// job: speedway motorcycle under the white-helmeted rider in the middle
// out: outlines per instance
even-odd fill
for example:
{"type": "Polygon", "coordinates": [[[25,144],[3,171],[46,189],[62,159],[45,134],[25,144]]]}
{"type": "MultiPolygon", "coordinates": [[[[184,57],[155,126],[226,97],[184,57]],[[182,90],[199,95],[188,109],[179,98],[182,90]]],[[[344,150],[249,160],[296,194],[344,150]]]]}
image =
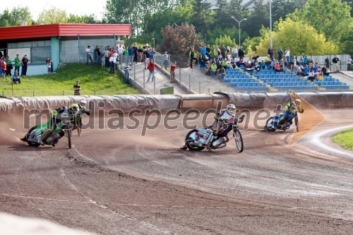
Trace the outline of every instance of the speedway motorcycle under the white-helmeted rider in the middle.
{"type": "Polygon", "coordinates": [[[191,151],[201,151],[205,149],[206,145],[209,145],[211,149],[220,149],[227,146],[229,141],[222,133],[230,126],[232,126],[233,137],[235,140],[235,145],[238,152],[243,152],[244,143],[241,133],[238,128],[238,123],[241,123],[244,119],[244,115],[239,116],[239,119],[232,116],[229,119],[223,119],[223,125],[215,134],[213,126],[208,126],[208,128],[196,127],[189,131],[185,137],[185,145],[191,151]]]}

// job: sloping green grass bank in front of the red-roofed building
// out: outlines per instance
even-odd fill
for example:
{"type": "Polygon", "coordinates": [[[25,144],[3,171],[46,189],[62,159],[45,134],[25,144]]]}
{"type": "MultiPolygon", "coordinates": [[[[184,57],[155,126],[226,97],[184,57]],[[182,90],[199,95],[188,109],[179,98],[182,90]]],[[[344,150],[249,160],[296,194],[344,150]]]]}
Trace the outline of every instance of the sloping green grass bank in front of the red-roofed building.
{"type": "MultiPolygon", "coordinates": [[[[28,67],[30,69],[30,67],[28,67]]],[[[21,84],[11,83],[12,77],[0,78],[0,95],[6,97],[59,96],[73,95],[73,85],[80,80],[81,95],[132,95],[141,94],[140,90],[124,83],[124,75],[107,73],[108,68],[86,66],[85,64],[68,64],[56,70],[56,73],[21,77],[21,84]]]]}

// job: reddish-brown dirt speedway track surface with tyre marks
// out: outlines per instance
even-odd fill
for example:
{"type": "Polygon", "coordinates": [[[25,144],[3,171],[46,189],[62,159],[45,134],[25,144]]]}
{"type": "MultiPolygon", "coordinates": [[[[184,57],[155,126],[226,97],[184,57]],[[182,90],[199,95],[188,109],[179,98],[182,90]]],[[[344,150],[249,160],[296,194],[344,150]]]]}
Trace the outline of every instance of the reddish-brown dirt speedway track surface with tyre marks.
{"type": "Polygon", "coordinates": [[[179,150],[180,120],[145,137],[84,130],[71,150],[65,138],[29,147],[11,117],[1,121],[0,211],[97,234],[352,234],[353,152],[336,151],[330,133],[352,127],[353,111],[321,112],[325,121],[292,146],[294,128],[240,126],[242,153],[233,142],[179,150]]]}

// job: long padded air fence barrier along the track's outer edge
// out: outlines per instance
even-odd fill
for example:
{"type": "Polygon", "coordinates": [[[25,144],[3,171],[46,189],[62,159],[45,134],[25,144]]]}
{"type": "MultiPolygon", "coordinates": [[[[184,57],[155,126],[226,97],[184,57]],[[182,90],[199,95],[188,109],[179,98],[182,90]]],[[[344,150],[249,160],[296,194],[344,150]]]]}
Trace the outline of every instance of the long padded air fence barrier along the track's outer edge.
{"type": "MultiPolygon", "coordinates": [[[[323,108],[353,108],[353,92],[298,92],[306,102],[314,107],[323,108]]],[[[53,110],[58,107],[78,103],[85,97],[88,108],[93,112],[99,110],[119,110],[128,113],[133,109],[140,110],[143,114],[146,110],[157,109],[161,113],[167,113],[172,109],[215,109],[219,102],[224,107],[229,102],[237,107],[273,108],[277,104],[285,104],[290,101],[287,92],[270,93],[227,93],[217,92],[211,95],[114,95],[114,96],[68,96],[68,97],[12,97],[0,98],[1,116],[11,114],[23,114],[25,110],[43,109],[53,110]]]]}

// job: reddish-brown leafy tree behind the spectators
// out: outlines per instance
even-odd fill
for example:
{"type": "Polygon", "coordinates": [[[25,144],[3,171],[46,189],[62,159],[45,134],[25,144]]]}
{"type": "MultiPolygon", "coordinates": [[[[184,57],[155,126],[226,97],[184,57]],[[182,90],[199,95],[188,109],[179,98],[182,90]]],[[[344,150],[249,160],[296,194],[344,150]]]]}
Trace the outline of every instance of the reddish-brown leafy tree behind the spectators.
{"type": "Polygon", "coordinates": [[[195,31],[193,25],[181,23],[181,25],[166,25],[160,30],[163,42],[161,51],[168,51],[171,54],[186,55],[191,47],[198,52],[203,46],[203,41],[199,40],[200,35],[195,31]]]}

